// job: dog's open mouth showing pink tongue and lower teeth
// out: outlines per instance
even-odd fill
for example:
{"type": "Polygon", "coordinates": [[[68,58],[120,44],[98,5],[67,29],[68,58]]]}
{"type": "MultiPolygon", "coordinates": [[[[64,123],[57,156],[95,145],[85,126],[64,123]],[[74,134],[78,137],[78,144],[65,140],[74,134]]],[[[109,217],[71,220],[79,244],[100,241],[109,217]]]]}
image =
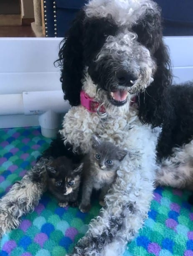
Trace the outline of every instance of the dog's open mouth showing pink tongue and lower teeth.
{"type": "Polygon", "coordinates": [[[109,100],[113,105],[122,106],[127,102],[128,91],[126,90],[117,90],[111,91],[109,94],[109,100]]]}

